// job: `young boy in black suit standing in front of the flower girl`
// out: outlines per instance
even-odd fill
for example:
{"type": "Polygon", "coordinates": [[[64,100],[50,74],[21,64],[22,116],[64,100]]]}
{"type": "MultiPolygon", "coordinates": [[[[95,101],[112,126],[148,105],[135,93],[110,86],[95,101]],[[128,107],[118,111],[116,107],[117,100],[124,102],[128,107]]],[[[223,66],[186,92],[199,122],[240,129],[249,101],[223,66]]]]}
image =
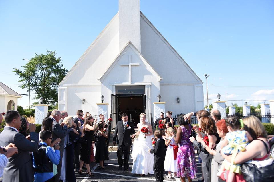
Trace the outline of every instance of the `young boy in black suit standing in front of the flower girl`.
{"type": "Polygon", "coordinates": [[[165,141],[162,138],[162,132],[156,130],[154,132],[155,136],[155,147],[154,149],[148,149],[148,152],[151,154],[154,153],[154,164],[153,171],[156,181],[163,182],[164,181],[164,161],[165,161],[165,151],[166,145],[165,141]]]}

